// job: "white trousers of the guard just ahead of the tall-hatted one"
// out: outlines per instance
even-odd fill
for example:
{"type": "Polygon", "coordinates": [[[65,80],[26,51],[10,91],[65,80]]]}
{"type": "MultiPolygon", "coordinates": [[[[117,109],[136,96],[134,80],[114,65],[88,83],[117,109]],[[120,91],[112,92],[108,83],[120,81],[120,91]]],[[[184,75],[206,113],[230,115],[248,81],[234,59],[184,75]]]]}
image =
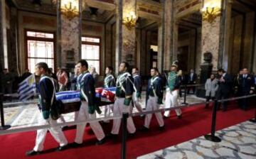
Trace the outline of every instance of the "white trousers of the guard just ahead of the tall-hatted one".
{"type": "MultiPolygon", "coordinates": [[[[159,104],[157,104],[157,99],[158,97],[151,97],[149,96],[149,99],[146,102],[146,111],[154,111],[159,109],[159,104]]],[[[144,126],[146,128],[149,128],[150,121],[152,119],[153,114],[146,114],[145,117],[145,123],[144,126]]],[[[159,126],[164,126],[164,119],[163,116],[161,115],[161,112],[155,113],[156,120],[159,123],[159,126]]]]}

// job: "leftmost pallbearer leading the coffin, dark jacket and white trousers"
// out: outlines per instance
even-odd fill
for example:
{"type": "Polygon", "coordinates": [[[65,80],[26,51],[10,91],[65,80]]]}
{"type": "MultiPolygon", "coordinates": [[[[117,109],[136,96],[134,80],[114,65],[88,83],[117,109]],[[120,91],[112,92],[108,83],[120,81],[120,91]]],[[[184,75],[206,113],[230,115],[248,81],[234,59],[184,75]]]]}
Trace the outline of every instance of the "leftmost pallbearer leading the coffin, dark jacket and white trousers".
{"type": "MultiPolygon", "coordinates": [[[[55,87],[53,79],[46,75],[48,72],[48,65],[45,62],[39,62],[35,67],[35,75],[41,77],[40,82],[38,83],[38,92],[39,92],[39,110],[38,114],[38,124],[40,125],[54,125],[57,124],[56,120],[52,119],[50,111],[55,104],[55,87]]],[[[38,129],[36,133],[36,146],[33,150],[30,150],[26,155],[38,155],[43,151],[43,143],[46,140],[47,131],[53,136],[55,141],[60,144],[57,150],[64,150],[67,148],[68,141],[64,136],[63,131],[60,126],[55,126],[51,128],[38,129]]]]}

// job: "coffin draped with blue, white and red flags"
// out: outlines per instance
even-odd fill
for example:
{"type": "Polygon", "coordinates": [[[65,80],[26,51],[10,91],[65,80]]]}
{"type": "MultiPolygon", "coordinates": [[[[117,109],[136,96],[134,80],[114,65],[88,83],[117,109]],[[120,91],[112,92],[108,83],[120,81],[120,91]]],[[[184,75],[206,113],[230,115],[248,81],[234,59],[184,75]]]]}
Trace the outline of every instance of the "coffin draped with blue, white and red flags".
{"type": "MultiPolygon", "coordinates": [[[[95,96],[100,99],[99,106],[114,103],[114,94],[116,87],[96,88],[95,96]]],[[[56,93],[56,99],[63,104],[62,114],[79,111],[80,109],[80,91],[63,91],[56,93]]]]}

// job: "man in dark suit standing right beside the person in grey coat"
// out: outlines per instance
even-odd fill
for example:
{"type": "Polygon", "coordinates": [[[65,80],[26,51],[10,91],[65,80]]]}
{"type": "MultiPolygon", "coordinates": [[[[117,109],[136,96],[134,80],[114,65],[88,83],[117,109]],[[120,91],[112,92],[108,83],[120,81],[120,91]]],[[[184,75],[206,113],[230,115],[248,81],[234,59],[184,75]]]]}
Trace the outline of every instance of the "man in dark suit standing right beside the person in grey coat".
{"type": "MultiPolygon", "coordinates": [[[[218,87],[216,97],[218,100],[228,99],[230,92],[232,90],[233,79],[223,69],[218,70],[218,75],[219,75],[219,79],[218,79],[219,87],[218,87]]],[[[227,110],[227,105],[228,105],[228,102],[223,102],[223,111],[227,110]]],[[[218,109],[220,109],[220,103],[218,104],[218,109]]]]}

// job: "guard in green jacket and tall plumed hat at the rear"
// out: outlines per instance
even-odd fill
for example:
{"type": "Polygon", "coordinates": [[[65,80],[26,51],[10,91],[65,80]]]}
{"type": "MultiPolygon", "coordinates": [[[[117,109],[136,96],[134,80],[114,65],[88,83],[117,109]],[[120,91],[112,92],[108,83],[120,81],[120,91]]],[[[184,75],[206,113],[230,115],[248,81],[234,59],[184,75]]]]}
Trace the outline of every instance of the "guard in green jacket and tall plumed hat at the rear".
{"type": "MultiPolygon", "coordinates": [[[[181,85],[181,76],[177,74],[178,65],[171,65],[171,72],[169,72],[166,82],[166,101],[165,107],[178,106],[178,90],[181,85]]],[[[178,119],[181,119],[181,109],[175,109],[178,119]]],[[[164,117],[169,118],[171,111],[165,111],[164,117]]]]}

